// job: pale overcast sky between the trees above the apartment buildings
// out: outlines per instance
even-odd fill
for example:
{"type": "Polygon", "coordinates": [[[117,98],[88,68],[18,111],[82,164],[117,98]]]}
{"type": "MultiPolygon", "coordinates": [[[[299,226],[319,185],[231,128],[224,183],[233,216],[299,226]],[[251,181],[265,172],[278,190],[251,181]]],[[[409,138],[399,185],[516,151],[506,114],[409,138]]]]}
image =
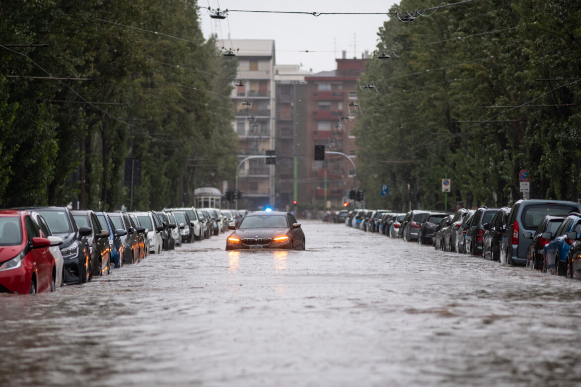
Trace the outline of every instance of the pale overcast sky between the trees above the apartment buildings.
{"type": "MultiPolygon", "coordinates": [[[[393,0],[199,0],[199,6],[212,9],[272,10],[292,12],[389,12],[399,3],[393,0]]],[[[212,32],[218,41],[224,39],[231,48],[232,39],[274,39],[277,64],[302,64],[303,70],[314,73],[336,68],[335,58],[342,50],[347,58],[361,58],[364,50],[370,55],[378,41],[377,32],[388,20],[387,15],[289,15],[277,13],[231,12],[227,19],[211,19],[207,9],[200,10],[205,37],[212,32]],[[301,52],[304,50],[314,52],[301,52]]],[[[232,47],[234,50],[236,47],[232,47]]]]}

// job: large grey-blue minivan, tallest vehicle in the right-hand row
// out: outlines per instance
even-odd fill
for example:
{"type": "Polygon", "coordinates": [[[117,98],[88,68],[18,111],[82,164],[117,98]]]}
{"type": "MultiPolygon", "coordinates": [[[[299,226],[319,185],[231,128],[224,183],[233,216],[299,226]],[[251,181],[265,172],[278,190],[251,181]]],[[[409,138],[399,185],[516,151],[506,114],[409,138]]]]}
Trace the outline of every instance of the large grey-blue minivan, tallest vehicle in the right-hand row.
{"type": "Polygon", "coordinates": [[[523,236],[525,233],[534,232],[547,215],[566,216],[580,211],[581,204],[571,201],[530,199],[515,202],[508,214],[505,229],[501,229],[500,261],[510,265],[525,265],[530,243],[530,239],[523,236]]]}

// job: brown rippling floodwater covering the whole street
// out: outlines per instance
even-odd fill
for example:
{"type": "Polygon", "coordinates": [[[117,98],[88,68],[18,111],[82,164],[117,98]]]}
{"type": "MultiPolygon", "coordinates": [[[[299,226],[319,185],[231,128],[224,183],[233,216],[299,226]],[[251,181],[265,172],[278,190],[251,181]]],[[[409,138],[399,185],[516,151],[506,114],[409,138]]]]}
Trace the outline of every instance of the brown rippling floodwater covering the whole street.
{"type": "Polygon", "coordinates": [[[227,234],[85,285],[0,295],[0,386],[566,386],[581,281],[303,223],[227,234]]]}

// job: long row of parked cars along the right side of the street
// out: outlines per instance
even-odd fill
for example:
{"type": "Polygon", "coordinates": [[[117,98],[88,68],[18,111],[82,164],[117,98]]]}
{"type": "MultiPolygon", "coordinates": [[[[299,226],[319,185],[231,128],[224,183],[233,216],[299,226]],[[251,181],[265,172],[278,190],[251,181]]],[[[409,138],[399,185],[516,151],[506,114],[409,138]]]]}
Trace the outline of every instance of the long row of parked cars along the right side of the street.
{"type": "Polygon", "coordinates": [[[581,278],[581,204],[576,202],[519,200],[511,207],[460,208],[454,214],[358,209],[347,213],[345,224],[436,250],[581,278]]]}

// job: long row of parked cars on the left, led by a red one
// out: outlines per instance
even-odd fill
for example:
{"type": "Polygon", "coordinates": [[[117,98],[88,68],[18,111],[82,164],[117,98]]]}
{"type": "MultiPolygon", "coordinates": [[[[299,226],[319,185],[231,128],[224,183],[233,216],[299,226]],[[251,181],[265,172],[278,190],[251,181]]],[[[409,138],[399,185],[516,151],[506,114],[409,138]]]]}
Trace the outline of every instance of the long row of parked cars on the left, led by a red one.
{"type": "Polygon", "coordinates": [[[95,212],[67,207],[0,211],[0,292],[34,294],[91,281],[228,230],[245,211],[164,208],[95,212]]]}

